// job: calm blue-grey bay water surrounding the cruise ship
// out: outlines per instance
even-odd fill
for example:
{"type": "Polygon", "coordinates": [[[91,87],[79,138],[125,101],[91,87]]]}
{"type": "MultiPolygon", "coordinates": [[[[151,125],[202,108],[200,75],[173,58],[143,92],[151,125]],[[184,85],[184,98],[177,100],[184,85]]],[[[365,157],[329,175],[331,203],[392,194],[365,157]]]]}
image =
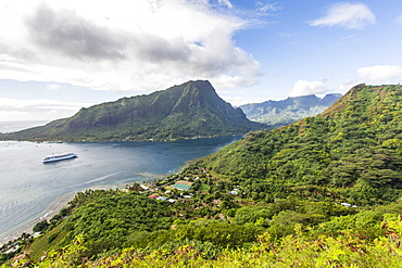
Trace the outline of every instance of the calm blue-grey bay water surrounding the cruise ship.
{"type": "Polygon", "coordinates": [[[63,194],[153,180],[240,138],[164,143],[0,141],[0,241],[16,227],[45,216],[49,204],[63,194]],[[78,153],[78,158],[42,164],[45,155],[63,152],[78,153]]]}

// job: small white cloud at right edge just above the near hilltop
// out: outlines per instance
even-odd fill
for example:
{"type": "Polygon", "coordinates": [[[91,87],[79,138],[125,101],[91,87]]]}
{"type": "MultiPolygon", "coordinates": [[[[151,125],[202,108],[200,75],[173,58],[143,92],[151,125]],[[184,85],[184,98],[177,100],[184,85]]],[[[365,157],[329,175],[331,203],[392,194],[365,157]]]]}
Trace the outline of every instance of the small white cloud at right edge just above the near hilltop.
{"type": "Polygon", "coordinates": [[[357,69],[359,79],[368,84],[402,82],[402,67],[392,65],[375,65],[357,69]]]}

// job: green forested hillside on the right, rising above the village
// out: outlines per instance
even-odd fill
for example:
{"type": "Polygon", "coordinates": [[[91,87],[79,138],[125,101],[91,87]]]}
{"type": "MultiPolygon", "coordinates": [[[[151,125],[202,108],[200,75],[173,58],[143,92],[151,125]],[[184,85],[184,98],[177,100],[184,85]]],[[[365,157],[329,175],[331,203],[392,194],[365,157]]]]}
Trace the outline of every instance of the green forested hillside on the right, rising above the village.
{"type": "Polygon", "coordinates": [[[247,135],[201,165],[248,189],[354,204],[402,194],[402,87],[352,88],[318,116],[247,135]],[[323,192],[324,191],[324,192],[323,192]]]}

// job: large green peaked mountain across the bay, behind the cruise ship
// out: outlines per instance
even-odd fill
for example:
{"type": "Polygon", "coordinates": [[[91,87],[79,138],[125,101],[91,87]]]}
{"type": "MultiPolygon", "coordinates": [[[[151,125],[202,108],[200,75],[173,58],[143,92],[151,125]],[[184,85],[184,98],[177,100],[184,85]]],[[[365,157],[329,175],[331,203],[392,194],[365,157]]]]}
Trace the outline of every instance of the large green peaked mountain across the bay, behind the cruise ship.
{"type": "MultiPolygon", "coordinates": [[[[223,101],[209,81],[83,107],[70,118],[5,136],[23,140],[175,140],[264,128],[223,101]]],[[[4,137],[4,136],[3,136],[4,137]]]]}

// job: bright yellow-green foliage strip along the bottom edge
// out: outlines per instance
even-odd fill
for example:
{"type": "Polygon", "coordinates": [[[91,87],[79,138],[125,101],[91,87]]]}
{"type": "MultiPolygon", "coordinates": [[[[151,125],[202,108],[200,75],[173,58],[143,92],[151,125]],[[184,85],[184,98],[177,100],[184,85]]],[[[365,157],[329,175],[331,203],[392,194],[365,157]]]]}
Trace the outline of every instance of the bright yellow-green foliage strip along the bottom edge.
{"type": "MultiPolygon", "coordinates": [[[[365,215],[368,216],[368,215],[365,215]]],[[[362,218],[365,218],[362,215],[362,218]]],[[[370,217],[369,217],[370,218],[370,217]]],[[[373,222],[375,225],[375,222],[373,222]]],[[[175,248],[156,248],[149,253],[126,247],[97,259],[81,259],[87,248],[83,237],[60,251],[47,253],[41,260],[23,258],[14,263],[22,267],[400,267],[402,221],[398,215],[385,215],[375,229],[381,230],[375,240],[344,230],[339,237],[328,234],[311,238],[300,230],[273,242],[269,233],[259,237],[247,248],[226,248],[217,257],[208,257],[209,244],[188,243],[175,248]],[[205,257],[206,256],[206,257],[205,257]]],[[[213,253],[212,253],[213,254],[213,253]]]]}

